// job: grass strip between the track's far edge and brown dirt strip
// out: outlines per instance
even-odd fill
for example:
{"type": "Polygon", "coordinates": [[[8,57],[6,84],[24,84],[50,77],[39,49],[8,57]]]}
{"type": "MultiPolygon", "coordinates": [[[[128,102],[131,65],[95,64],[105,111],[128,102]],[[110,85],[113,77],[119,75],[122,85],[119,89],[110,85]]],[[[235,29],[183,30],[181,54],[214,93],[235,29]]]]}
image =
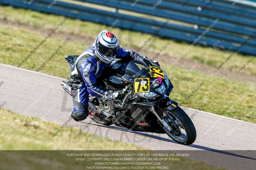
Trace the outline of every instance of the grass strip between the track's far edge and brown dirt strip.
{"type": "MultiPolygon", "coordinates": [[[[9,27],[0,34],[0,39],[0,47],[7,48],[0,58],[0,63],[17,66],[24,59],[24,56],[27,56],[30,50],[32,50],[38,42],[41,42],[42,39],[44,39],[44,36],[23,29],[9,27]],[[14,37],[16,37],[17,41],[14,41],[12,46],[8,45],[14,37]]],[[[51,38],[46,41],[46,43],[22,65],[22,68],[28,70],[38,69],[38,67],[52,55],[56,47],[59,47],[62,42],[63,40],[58,38],[51,38]]],[[[40,72],[62,78],[69,78],[69,66],[64,60],[64,57],[68,54],[80,54],[83,50],[83,44],[70,40],[67,45],[64,46],[42,70],[40,70],[40,72]]],[[[168,67],[167,64],[160,64],[162,64],[161,66],[168,67]]],[[[172,99],[177,100],[179,103],[182,102],[192,90],[203,82],[204,85],[187,102],[185,102],[183,106],[197,109],[202,103],[206,103],[203,110],[218,115],[225,114],[229,107],[235,104],[235,102],[243,96],[244,92],[252,86],[252,83],[232,81],[226,78],[214,77],[194,71],[190,74],[187,74],[186,72],[186,69],[176,66],[167,70],[169,78],[174,85],[174,90],[171,93],[172,99]],[[181,78],[184,77],[191,77],[192,79],[191,81],[180,82],[181,78]],[[177,84],[177,82],[180,83],[177,84]],[[182,92],[178,90],[178,86],[182,92]]],[[[241,102],[238,102],[236,106],[226,114],[226,116],[255,123],[255,111],[250,113],[252,107],[255,106],[255,102],[252,102],[256,100],[255,91],[256,88],[253,88],[241,102]],[[250,113],[250,115],[244,119],[244,115],[247,115],[248,113],[250,113]]]]}

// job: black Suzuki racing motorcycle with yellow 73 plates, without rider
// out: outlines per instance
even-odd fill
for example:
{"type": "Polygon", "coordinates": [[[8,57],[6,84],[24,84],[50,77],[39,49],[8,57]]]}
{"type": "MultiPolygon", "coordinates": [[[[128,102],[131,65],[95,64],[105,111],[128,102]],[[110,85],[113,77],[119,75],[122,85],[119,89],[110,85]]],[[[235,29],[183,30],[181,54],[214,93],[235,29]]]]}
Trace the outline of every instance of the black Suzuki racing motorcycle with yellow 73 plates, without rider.
{"type": "MultiPolygon", "coordinates": [[[[77,55],[68,55],[70,68],[77,58],[77,55]]],[[[173,85],[163,71],[165,68],[149,61],[142,57],[128,62],[116,59],[111,63],[106,74],[97,81],[110,92],[121,94],[123,100],[104,101],[90,95],[89,102],[98,111],[98,116],[92,120],[129,131],[166,133],[179,144],[192,144],[196,140],[193,122],[178,102],[169,98],[173,85]]]]}

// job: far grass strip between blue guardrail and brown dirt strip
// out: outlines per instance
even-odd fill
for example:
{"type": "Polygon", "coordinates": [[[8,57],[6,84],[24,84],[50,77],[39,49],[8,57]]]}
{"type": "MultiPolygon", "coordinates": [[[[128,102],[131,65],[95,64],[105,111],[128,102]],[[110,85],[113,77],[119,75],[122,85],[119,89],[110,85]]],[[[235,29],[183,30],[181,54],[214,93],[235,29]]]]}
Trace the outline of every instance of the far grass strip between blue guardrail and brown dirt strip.
{"type": "MultiPolygon", "coordinates": [[[[14,9],[10,6],[0,6],[0,18],[11,19],[13,17],[15,18],[14,22],[20,22],[26,25],[49,29],[55,28],[56,25],[63,20],[62,16],[49,15],[31,10],[14,9]]],[[[69,18],[68,21],[64,24],[64,26],[60,28],[59,31],[65,33],[75,33],[77,35],[95,38],[99,31],[107,27],[108,26],[103,26],[91,22],[84,22],[78,19],[69,18]]],[[[134,50],[137,50],[151,36],[149,34],[121,30],[115,27],[112,29],[112,31],[118,35],[119,41],[121,42],[122,46],[134,50]],[[133,42],[127,41],[128,37],[131,36],[133,42]]],[[[148,49],[148,47],[146,47],[141,51],[141,53],[143,54],[144,50],[148,50],[152,52],[152,56],[148,56],[151,58],[155,55],[155,53],[159,52],[159,49],[161,49],[166,44],[167,41],[169,41],[171,42],[171,46],[168,47],[162,54],[166,53],[167,55],[178,57],[190,45],[185,42],[176,42],[173,40],[163,38],[156,38],[154,39],[154,41],[155,40],[156,42],[151,48],[148,49]]],[[[85,44],[85,46],[86,45],[89,44],[85,44]]],[[[194,46],[183,57],[197,62],[208,50],[209,47],[194,46]]],[[[219,49],[214,49],[204,59],[203,63],[206,63],[217,68],[231,53],[232,52],[228,50],[222,51],[219,49]]],[[[252,55],[236,54],[221,69],[237,71],[251,57],[252,55]]],[[[256,75],[256,70],[254,69],[255,66],[256,62],[252,62],[246,66],[246,69],[243,70],[243,72],[248,75],[256,75]]],[[[218,70],[216,69],[216,71],[218,70]]]]}

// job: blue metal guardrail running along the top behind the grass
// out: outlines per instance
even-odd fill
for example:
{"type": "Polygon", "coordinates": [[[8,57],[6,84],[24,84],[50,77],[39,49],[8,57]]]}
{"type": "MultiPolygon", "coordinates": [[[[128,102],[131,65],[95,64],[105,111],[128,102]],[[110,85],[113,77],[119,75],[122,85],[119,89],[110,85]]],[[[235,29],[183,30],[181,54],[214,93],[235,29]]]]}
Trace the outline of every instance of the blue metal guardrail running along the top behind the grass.
{"type": "MultiPolygon", "coordinates": [[[[76,1],[84,2],[85,0],[76,1]]],[[[132,6],[135,0],[86,0],[91,4],[105,4],[115,11],[61,1],[57,1],[48,8],[47,6],[53,0],[34,0],[31,4],[28,2],[29,0],[4,0],[3,4],[105,25],[111,25],[118,19],[116,27],[149,34],[156,33],[157,28],[164,25],[163,30],[157,35],[191,43],[219,18],[219,21],[197,41],[197,44],[212,46],[219,40],[217,47],[229,50],[236,50],[248,36],[256,31],[256,8],[238,2],[232,5],[231,1],[213,0],[212,4],[209,4],[209,0],[188,0],[184,5],[186,2],[184,0],[163,0],[153,8],[152,6],[159,1],[139,0],[132,6]],[[120,10],[136,12],[144,17],[119,12],[120,10]],[[164,24],[165,20],[170,22],[164,24]]],[[[254,55],[255,47],[256,39],[252,37],[239,52],[254,55]]]]}

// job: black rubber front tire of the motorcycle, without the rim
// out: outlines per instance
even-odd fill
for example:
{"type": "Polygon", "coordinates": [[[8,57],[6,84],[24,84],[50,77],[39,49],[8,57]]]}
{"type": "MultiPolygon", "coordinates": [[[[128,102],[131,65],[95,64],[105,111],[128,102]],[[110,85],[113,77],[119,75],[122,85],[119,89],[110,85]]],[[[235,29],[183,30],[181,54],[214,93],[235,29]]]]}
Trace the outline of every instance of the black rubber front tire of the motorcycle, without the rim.
{"type": "Polygon", "coordinates": [[[193,144],[196,140],[196,128],[193,122],[191,121],[191,119],[188,117],[188,115],[179,106],[177,106],[173,110],[166,109],[166,111],[170,112],[173,116],[175,116],[180,121],[180,123],[182,124],[182,126],[186,131],[187,139],[186,141],[179,141],[168,133],[167,131],[168,129],[166,130],[165,128],[163,128],[166,134],[179,144],[185,144],[185,145],[193,144]]]}

